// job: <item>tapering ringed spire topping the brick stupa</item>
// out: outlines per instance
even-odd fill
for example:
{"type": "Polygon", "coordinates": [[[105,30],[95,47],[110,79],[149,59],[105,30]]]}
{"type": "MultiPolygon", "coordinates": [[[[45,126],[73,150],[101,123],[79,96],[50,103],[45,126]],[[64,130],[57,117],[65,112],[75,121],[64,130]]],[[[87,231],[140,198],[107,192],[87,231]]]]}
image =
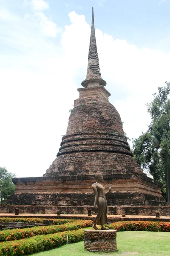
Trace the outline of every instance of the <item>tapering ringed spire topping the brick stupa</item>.
{"type": "Polygon", "coordinates": [[[88,70],[86,79],[82,81],[82,86],[95,87],[98,85],[105,86],[106,82],[101,78],[100,73],[99,57],[97,53],[96,36],[94,28],[94,10],[92,7],[91,37],[88,52],[88,70]]]}

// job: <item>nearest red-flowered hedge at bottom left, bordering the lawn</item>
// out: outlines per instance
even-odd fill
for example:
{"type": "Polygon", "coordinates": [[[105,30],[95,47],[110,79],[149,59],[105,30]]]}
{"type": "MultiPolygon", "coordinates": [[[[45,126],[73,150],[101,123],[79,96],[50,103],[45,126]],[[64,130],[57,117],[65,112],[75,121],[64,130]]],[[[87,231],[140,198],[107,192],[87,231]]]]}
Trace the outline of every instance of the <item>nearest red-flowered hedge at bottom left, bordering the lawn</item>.
{"type": "Polygon", "coordinates": [[[82,241],[84,239],[84,229],[2,242],[0,244],[0,256],[21,256],[53,249],[66,244],[67,236],[68,243],[82,241]]]}

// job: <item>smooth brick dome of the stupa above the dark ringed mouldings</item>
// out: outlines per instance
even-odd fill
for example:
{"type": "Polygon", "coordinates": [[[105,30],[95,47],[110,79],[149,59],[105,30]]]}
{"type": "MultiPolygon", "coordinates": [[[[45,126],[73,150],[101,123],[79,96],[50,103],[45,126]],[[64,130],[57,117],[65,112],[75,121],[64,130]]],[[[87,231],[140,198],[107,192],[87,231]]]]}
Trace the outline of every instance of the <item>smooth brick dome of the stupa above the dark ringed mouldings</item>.
{"type": "Polygon", "coordinates": [[[99,100],[90,102],[79,99],[79,105],[75,103],[66,134],[75,134],[78,131],[82,133],[93,131],[113,133],[115,131],[124,135],[122,121],[116,108],[110,102],[99,100]]]}

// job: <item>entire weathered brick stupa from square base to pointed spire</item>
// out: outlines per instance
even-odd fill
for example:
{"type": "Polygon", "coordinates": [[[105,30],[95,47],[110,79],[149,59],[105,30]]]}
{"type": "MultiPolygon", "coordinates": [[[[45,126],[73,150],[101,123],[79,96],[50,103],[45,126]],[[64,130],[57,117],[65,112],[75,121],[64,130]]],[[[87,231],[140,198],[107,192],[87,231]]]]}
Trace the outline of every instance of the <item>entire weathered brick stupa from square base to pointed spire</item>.
{"type": "Polygon", "coordinates": [[[105,85],[92,13],[87,77],[78,89],[57,158],[43,177],[13,179],[17,186],[9,203],[20,205],[20,212],[56,213],[60,209],[87,214],[94,204],[94,175],[100,171],[106,190],[112,184],[108,213],[155,215],[159,210],[161,215],[170,214],[161,195],[162,184],[147,177],[133,158],[105,85]]]}

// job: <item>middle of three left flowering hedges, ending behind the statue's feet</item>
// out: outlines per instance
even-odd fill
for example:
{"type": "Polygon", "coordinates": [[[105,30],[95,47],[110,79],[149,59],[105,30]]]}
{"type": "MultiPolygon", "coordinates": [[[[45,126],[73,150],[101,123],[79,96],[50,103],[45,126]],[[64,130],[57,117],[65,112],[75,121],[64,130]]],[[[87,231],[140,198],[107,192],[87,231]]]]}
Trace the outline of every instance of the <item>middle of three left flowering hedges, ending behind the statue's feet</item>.
{"type": "Polygon", "coordinates": [[[19,239],[30,238],[32,236],[40,236],[46,234],[54,234],[66,230],[78,230],[83,227],[91,227],[93,221],[90,220],[75,220],[73,223],[63,225],[51,225],[42,227],[31,227],[24,229],[3,230],[0,232],[0,242],[13,241],[19,239]]]}

